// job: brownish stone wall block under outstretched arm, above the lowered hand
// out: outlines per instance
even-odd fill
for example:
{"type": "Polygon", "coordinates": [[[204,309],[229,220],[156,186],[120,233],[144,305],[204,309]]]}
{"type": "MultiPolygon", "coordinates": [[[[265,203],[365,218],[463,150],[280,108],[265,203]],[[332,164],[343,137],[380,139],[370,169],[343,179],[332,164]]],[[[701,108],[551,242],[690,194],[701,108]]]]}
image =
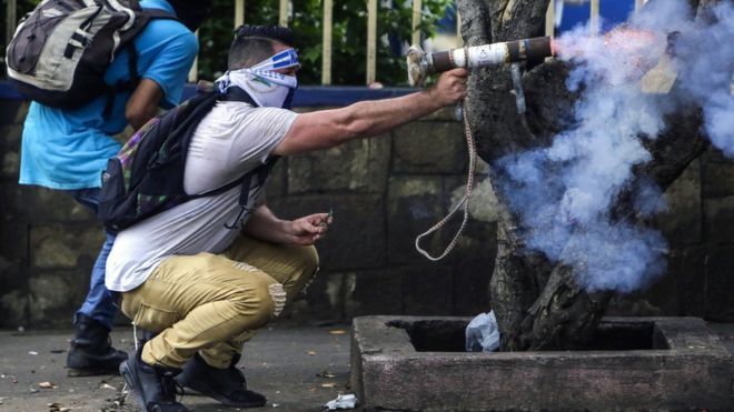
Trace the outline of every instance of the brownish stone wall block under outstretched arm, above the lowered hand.
{"type": "Polygon", "coordinates": [[[387,135],[353,140],[288,159],[288,193],[384,193],[390,157],[387,135]]]}

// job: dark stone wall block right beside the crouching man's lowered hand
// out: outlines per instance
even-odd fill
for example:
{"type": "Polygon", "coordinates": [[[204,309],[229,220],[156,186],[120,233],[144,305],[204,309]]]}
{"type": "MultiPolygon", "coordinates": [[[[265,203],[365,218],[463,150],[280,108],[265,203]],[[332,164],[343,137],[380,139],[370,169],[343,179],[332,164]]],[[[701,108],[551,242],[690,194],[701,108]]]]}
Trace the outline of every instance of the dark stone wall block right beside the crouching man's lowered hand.
{"type": "Polygon", "coordinates": [[[284,219],[334,211],[334,224],[317,244],[324,270],[380,268],[387,260],[385,204],[380,195],[290,195],[274,200],[270,207],[284,219]]]}

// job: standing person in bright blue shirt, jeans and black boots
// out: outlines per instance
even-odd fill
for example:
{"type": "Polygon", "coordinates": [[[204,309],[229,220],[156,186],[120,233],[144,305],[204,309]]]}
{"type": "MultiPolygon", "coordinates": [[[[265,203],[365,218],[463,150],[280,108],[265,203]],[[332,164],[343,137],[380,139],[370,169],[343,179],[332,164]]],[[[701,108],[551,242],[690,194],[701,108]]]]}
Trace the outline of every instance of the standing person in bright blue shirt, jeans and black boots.
{"type": "MultiPolygon", "coordinates": [[[[75,109],[32,102],[23,124],[20,184],[66,191],[97,212],[101,172],[120,150],[112,137],[128,123],[140,128],[159,107],[178,104],[198,53],[194,31],[207,17],[210,1],[142,0],[140,6],[178,19],[155,19],[132,40],[140,82],[131,91],[116,93],[112,101],[103,94],[75,109]]],[[[110,86],[130,81],[130,59],[131,49],[126,47],[107,69],[105,81],[110,86]]],[[[105,267],[113,241],[115,233],[107,232],[89,292],[73,316],[77,332],[67,358],[71,376],[117,373],[127,359],[109,338],[118,307],[105,288],[105,267]]]]}

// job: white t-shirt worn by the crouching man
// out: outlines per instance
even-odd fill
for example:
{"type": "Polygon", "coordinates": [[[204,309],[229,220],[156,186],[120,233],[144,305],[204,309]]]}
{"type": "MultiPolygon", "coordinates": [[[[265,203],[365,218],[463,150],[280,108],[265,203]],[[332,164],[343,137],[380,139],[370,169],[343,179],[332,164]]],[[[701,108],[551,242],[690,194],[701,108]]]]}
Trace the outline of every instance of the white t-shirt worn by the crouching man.
{"type": "MultiPolygon", "coordinates": [[[[239,179],[265,163],[298,114],[276,108],[252,108],[242,102],[218,102],[194,133],[186,159],[184,188],[205,193],[239,179]]],[[[240,185],[216,195],[192,199],[121,231],[107,259],[107,289],[130,291],[142,284],[158,263],[171,254],[220,253],[229,247],[237,228],[240,185]]],[[[262,188],[250,188],[248,209],[262,188]]]]}

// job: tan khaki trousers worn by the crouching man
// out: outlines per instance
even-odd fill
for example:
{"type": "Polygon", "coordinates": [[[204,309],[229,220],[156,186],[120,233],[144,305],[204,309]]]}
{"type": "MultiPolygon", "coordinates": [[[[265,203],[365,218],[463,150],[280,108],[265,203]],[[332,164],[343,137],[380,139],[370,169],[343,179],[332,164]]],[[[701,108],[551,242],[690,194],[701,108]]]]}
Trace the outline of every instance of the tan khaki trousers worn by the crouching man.
{"type": "Polygon", "coordinates": [[[181,368],[199,352],[225,369],[317,269],[314,247],[240,237],[222,254],[166,258],[145,283],[122,293],[121,310],[136,326],[159,332],[142,348],[143,362],[181,368]]]}

